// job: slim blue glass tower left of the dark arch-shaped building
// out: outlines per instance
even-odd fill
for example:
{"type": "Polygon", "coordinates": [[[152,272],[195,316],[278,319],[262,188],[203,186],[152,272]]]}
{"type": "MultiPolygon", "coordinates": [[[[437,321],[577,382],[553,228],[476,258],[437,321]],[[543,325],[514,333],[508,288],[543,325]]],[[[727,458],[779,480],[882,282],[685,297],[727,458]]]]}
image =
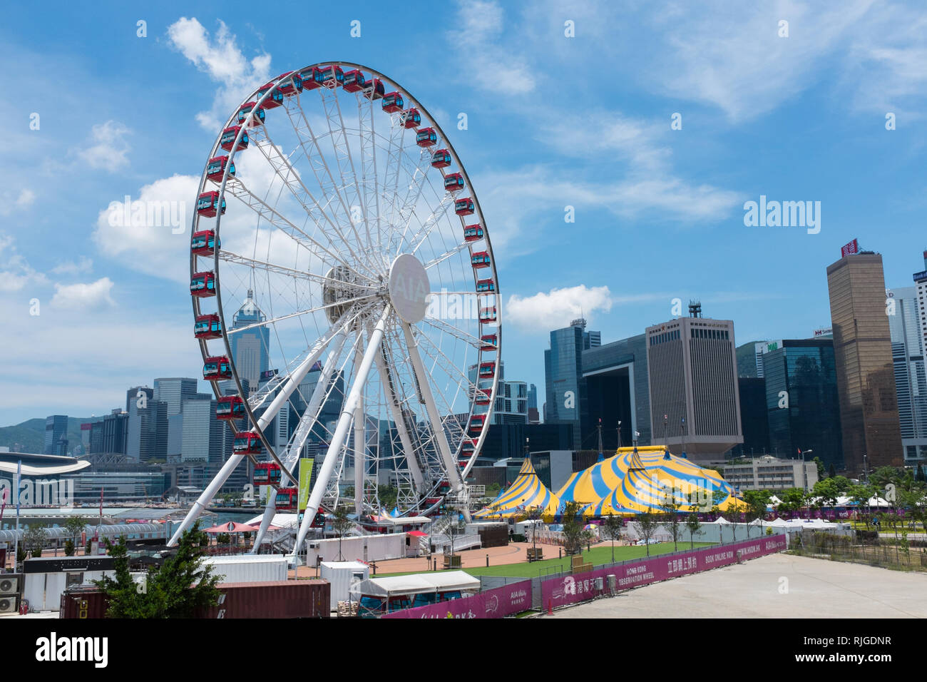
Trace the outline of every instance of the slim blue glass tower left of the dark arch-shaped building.
{"type": "Polygon", "coordinates": [[[551,332],[551,349],[544,351],[544,380],[547,412],[544,421],[573,425],[573,449],[582,449],[582,421],[588,418],[586,380],[582,374],[582,353],[602,345],[602,333],[586,331],[586,320],[573,320],[569,327],[551,332]]]}

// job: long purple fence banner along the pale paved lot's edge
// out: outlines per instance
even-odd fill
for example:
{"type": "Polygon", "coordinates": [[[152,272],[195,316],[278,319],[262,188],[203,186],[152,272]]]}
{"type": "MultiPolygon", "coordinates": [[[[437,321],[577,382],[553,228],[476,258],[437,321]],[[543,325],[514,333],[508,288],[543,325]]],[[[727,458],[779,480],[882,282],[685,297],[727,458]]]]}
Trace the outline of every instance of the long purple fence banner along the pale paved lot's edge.
{"type": "Polygon", "coordinates": [[[781,552],[783,549],[785,549],[785,535],[775,534],[756,540],[744,540],[724,547],[706,547],[684,554],[655,556],[648,560],[603,568],[590,573],[562,575],[540,584],[541,603],[544,609],[552,609],[607,594],[609,575],[615,575],[616,591],[618,591],[650,585],[661,580],[677,578],[680,575],[699,573],[718,566],[727,566],[737,561],[738,551],[746,560],[781,552]]]}

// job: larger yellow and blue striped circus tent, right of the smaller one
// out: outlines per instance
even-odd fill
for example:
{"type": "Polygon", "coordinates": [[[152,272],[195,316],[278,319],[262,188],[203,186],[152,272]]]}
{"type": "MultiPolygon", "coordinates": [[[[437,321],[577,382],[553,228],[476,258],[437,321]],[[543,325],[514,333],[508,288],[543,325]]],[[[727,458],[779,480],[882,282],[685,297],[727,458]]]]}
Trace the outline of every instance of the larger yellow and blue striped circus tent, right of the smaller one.
{"type": "Polygon", "coordinates": [[[716,491],[722,511],[743,504],[717,471],[670,455],[662,446],[648,446],[621,448],[614,457],[574,473],[557,495],[564,504],[584,505],[583,514],[592,517],[660,511],[670,492],[679,511],[707,510],[715,504],[716,491]]]}

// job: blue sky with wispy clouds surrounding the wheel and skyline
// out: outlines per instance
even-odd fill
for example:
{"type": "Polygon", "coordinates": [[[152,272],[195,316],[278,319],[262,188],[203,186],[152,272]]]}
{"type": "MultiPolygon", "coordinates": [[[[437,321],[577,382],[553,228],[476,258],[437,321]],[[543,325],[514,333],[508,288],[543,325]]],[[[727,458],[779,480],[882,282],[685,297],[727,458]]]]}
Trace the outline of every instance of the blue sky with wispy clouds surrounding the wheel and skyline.
{"type": "Polygon", "coordinates": [[[451,137],[493,238],[506,377],[541,392],[547,332],[580,309],[603,342],[668,319],[674,298],[733,319],[738,343],[801,338],[829,324],[825,268],[850,239],[883,253],[888,286],[923,269],[918,3],[324,7],[6,7],[0,425],[100,415],[129,386],[197,376],[189,236],[121,234],[101,212],[191,200],[215,121],[328,59],[386,73],[451,137]],[[819,234],[745,226],[760,195],[820,201],[819,234]]]}

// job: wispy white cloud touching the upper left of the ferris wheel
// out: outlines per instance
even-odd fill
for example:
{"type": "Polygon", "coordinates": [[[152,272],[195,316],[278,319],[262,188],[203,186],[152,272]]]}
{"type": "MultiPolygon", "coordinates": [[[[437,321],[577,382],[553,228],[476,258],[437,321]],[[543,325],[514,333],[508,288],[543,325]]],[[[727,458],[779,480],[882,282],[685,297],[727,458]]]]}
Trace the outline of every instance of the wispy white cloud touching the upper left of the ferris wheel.
{"type": "Polygon", "coordinates": [[[217,131],[250,92],[271,79],[271,56],[264,52],[248,61],[222,21],[210,40],[196,18],[182,17],[168,27],[168,38],[172,47],[220,84],[211,109],[197,113],[197,122],[207,130],[217,131]]]}

